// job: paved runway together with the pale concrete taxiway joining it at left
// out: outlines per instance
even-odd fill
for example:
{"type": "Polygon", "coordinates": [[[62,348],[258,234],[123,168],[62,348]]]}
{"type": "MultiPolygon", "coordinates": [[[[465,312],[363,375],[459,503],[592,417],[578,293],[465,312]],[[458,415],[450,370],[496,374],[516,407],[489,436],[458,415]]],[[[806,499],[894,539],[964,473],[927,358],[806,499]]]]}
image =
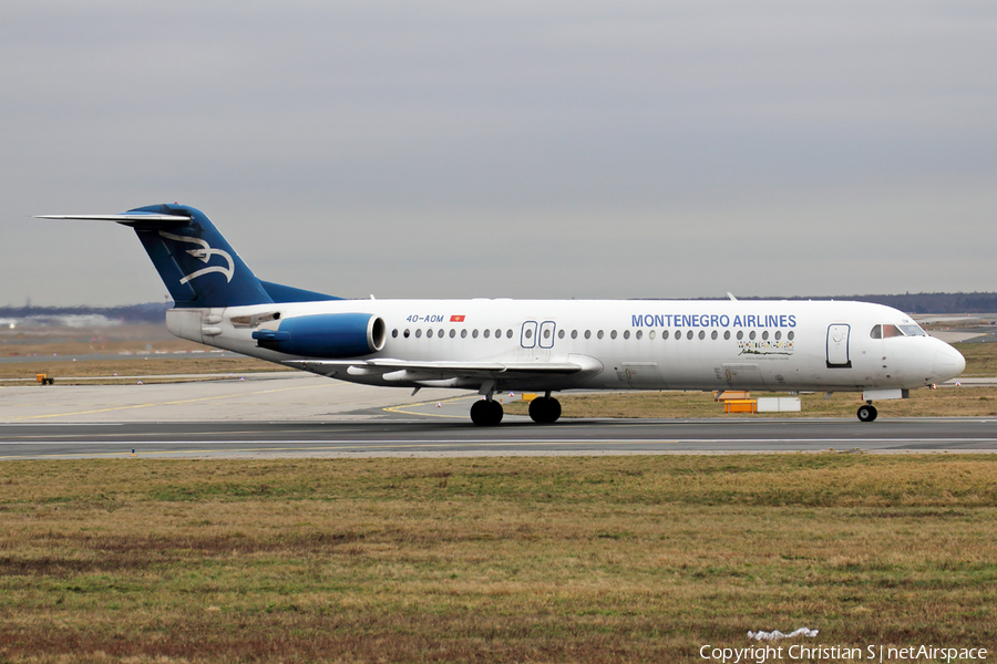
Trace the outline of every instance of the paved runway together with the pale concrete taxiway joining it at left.
{"type": "MultiPolygon", "coordinates": [[[[562,419],[481,428],[466,393],[265,374],[0,390],[0,459],[997,452],[997,418],[562,419]]],[[[504,395],[503,398],[518,398],[504,395]]]]}

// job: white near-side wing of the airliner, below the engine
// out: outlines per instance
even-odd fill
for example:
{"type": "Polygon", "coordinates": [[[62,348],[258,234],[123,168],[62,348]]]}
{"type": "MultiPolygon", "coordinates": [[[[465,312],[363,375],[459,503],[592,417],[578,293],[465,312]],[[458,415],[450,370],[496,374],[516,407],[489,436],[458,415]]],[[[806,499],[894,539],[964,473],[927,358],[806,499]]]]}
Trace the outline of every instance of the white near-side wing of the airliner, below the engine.
{"type": "Polygon", "coordinates": [[[409,362],[405,360],[376,359],[291,360],[287,366],[310,371],[326,376],[346,373],[350,376],[380,375],[386,381],[439,381],[445,378],[523,378],[543,375],[566,376],[580,372],[595,372],[603,365],[595,359],[573,355],[569,362],[409,362]]]}

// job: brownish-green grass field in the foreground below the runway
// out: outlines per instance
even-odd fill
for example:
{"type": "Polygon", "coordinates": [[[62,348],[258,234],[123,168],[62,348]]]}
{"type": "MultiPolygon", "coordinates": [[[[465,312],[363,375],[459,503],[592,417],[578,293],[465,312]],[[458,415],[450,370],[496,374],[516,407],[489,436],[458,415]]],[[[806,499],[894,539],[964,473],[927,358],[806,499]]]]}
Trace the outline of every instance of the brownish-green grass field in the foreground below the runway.
{"type": "Polygon", "coordinates": [[[984,455],[9,461],[0,662],[994,647],[995,517],[984,455]]]}

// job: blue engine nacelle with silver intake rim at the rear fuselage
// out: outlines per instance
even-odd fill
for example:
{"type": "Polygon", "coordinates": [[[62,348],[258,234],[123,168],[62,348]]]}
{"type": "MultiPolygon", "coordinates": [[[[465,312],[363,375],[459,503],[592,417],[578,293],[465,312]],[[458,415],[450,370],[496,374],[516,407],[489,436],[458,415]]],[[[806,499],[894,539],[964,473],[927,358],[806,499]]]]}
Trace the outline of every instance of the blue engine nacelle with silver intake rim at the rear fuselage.
{"type": "Polygon", "coordinates": [[[317,313],[284,319],[276,330],[257,330],[260,347],[307,357],[356,357],[384,347],[388,328],[370,313],[317,313]]]}

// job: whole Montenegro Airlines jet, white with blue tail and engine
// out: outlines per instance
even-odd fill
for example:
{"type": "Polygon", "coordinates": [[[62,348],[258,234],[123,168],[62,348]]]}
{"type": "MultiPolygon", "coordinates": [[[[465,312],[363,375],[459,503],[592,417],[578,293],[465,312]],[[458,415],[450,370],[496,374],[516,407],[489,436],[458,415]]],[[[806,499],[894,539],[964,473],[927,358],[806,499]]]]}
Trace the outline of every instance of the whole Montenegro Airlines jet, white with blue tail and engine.
{"type": "Polygon", "coordinates": [[[474,390],[479,425],[495,393],[543,393],[553,423],[565,390],[861,392],[874,400],[959,375],[963,356],[901,311],[862,302],[682,300],[348,300],[257,279],[212,221],[184,205],[52,215],[131,226],[176,302],[183,339],[323,376],[474,390]]]}

